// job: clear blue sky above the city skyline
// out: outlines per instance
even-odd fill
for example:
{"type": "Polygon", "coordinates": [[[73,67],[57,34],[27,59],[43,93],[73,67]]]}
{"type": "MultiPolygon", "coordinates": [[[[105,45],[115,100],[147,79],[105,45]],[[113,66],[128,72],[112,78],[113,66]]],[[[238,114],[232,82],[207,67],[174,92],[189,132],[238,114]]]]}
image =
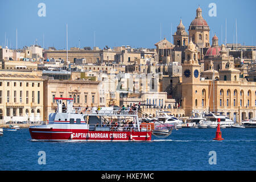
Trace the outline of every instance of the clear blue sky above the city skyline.
{"type": "Polygon", "coordinates": [[[18,29],[18,48],[31,46],[35,40],[44,48],[66,47],[66,23],[68,23],[68,47],[94,46],[132,46],[155,48],[162,38],[171,41],[180,18],[188,32],[189,24],[196,16],[200,5],[203,17],[210,26],[210,36],[216,35],[219,44],[225,40],[225,19],[227,19],[227,42],[236,43],[236,18],[238,43],[256,44],[256,1],[255,0],[201,0],[201,1],[163,1],[163,0],[0,0],[0,45],[8,39],[10,47],[16,46],[18,29]],[[39,3],[46,4],[46,16],[38,16],[39,3]],[[210,3],[216,3],[217,16],[209,16],[210,3]],[[222,34],[221,34],[222,26],[222,34]],[[222,36],[221,36],[222,35],[222,36]],[[222,37],[222,39],[221,39],[222,37]]]}

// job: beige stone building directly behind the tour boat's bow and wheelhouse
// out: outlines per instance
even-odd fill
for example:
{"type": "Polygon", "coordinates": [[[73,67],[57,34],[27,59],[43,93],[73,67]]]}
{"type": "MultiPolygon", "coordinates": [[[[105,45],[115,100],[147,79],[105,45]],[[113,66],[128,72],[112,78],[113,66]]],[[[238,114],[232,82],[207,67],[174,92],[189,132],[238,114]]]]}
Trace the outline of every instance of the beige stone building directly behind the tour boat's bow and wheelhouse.
{"type": "Polygon", "coordinates": [[[45,80],[44,81],[44,120],[50,113],[54,113],[57,104],[55,97],[73,98],[74,109],[84,110],[89,107],[100,105],[98,81],[83,80],[45,80]]]}

